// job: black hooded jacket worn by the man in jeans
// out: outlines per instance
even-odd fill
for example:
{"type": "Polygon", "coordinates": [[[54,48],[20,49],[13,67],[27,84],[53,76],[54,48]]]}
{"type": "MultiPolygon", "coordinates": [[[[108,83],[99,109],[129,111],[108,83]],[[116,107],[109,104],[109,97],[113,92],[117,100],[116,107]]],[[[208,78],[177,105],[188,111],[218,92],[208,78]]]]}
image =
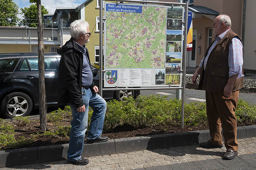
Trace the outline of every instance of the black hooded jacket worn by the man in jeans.
{"type": "MultiPolygon", "coordinates": [[[[58,76],[58,104],[71,103],[75,104],[76,108],[82,107],[83,54],[72,37],[58,50],[58,54],[61,55],[58,76]]],[[[86,56],[90,63],[87,48],[86,56]]],[[[94,86],[95,84],[92,83],[90,89],[92,90],[94,86]]]]}

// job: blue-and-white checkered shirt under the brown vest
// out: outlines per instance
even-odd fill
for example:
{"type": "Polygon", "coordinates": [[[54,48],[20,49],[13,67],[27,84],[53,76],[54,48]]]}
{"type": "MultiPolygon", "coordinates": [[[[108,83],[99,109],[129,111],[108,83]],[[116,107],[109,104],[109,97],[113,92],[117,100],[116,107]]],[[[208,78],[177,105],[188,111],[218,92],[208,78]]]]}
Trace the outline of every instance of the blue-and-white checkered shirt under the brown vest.
{"type": "MultiPolygon", "coordinates": [[[[199,67],[203,66],[204,61],[204,70],[207,64],[207,60],[213,50],[213,48],[216,46],[216,44],[226,35],[227,29],[225,32],[223,32],[219,36],[215,36],[215,41],[212,44],[211,48],[208,51],[207,56],[205,57],[205,60],[201,60],[199,67]]],[[[229,56],[228,56],[228,64],[229,64],[229,77],[238,74],[237,79],[243,77],[242,74],[242,65],[243,65],[243,45],[240,41],[240,39],[235,36],[229,46],[229,56]]]]}

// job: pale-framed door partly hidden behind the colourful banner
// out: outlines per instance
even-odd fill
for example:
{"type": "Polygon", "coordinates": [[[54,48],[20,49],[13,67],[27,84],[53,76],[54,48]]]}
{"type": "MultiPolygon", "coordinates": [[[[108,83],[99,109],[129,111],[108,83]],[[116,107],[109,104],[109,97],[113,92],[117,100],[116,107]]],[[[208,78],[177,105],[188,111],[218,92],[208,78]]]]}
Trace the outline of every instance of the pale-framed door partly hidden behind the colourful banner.
{"type": "Polygon", "coordinates": [[[192,51],[187,51],[187,67],[196,67],[196,37],[197,37],[197,30],[193,30],[193,43],[192,43],[192,51]]]}

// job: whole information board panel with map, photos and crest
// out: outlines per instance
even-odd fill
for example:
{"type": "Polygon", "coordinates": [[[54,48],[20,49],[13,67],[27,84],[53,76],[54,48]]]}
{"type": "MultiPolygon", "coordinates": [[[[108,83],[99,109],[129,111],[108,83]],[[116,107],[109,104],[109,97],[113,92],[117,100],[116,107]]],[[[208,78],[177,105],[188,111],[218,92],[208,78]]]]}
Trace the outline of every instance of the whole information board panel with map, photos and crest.
{"type": "Polygon", "coordinates": [[[184,7],[105,3],[104,87],[181,86],[184,7]]]}

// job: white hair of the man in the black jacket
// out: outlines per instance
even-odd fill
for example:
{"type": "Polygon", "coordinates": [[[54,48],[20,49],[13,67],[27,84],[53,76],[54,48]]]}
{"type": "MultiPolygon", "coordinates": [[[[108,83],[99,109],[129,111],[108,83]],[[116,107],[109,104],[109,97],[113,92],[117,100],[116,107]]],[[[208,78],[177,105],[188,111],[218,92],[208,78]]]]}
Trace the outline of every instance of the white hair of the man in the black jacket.
{"type": "Polygon", "coordinates": [[[89,28],[89,23],[83,20],[75,20],[70,24],[70,35],[74,39],[78,39],[80,33],[86,33],[87,28],[89,28]]]}

